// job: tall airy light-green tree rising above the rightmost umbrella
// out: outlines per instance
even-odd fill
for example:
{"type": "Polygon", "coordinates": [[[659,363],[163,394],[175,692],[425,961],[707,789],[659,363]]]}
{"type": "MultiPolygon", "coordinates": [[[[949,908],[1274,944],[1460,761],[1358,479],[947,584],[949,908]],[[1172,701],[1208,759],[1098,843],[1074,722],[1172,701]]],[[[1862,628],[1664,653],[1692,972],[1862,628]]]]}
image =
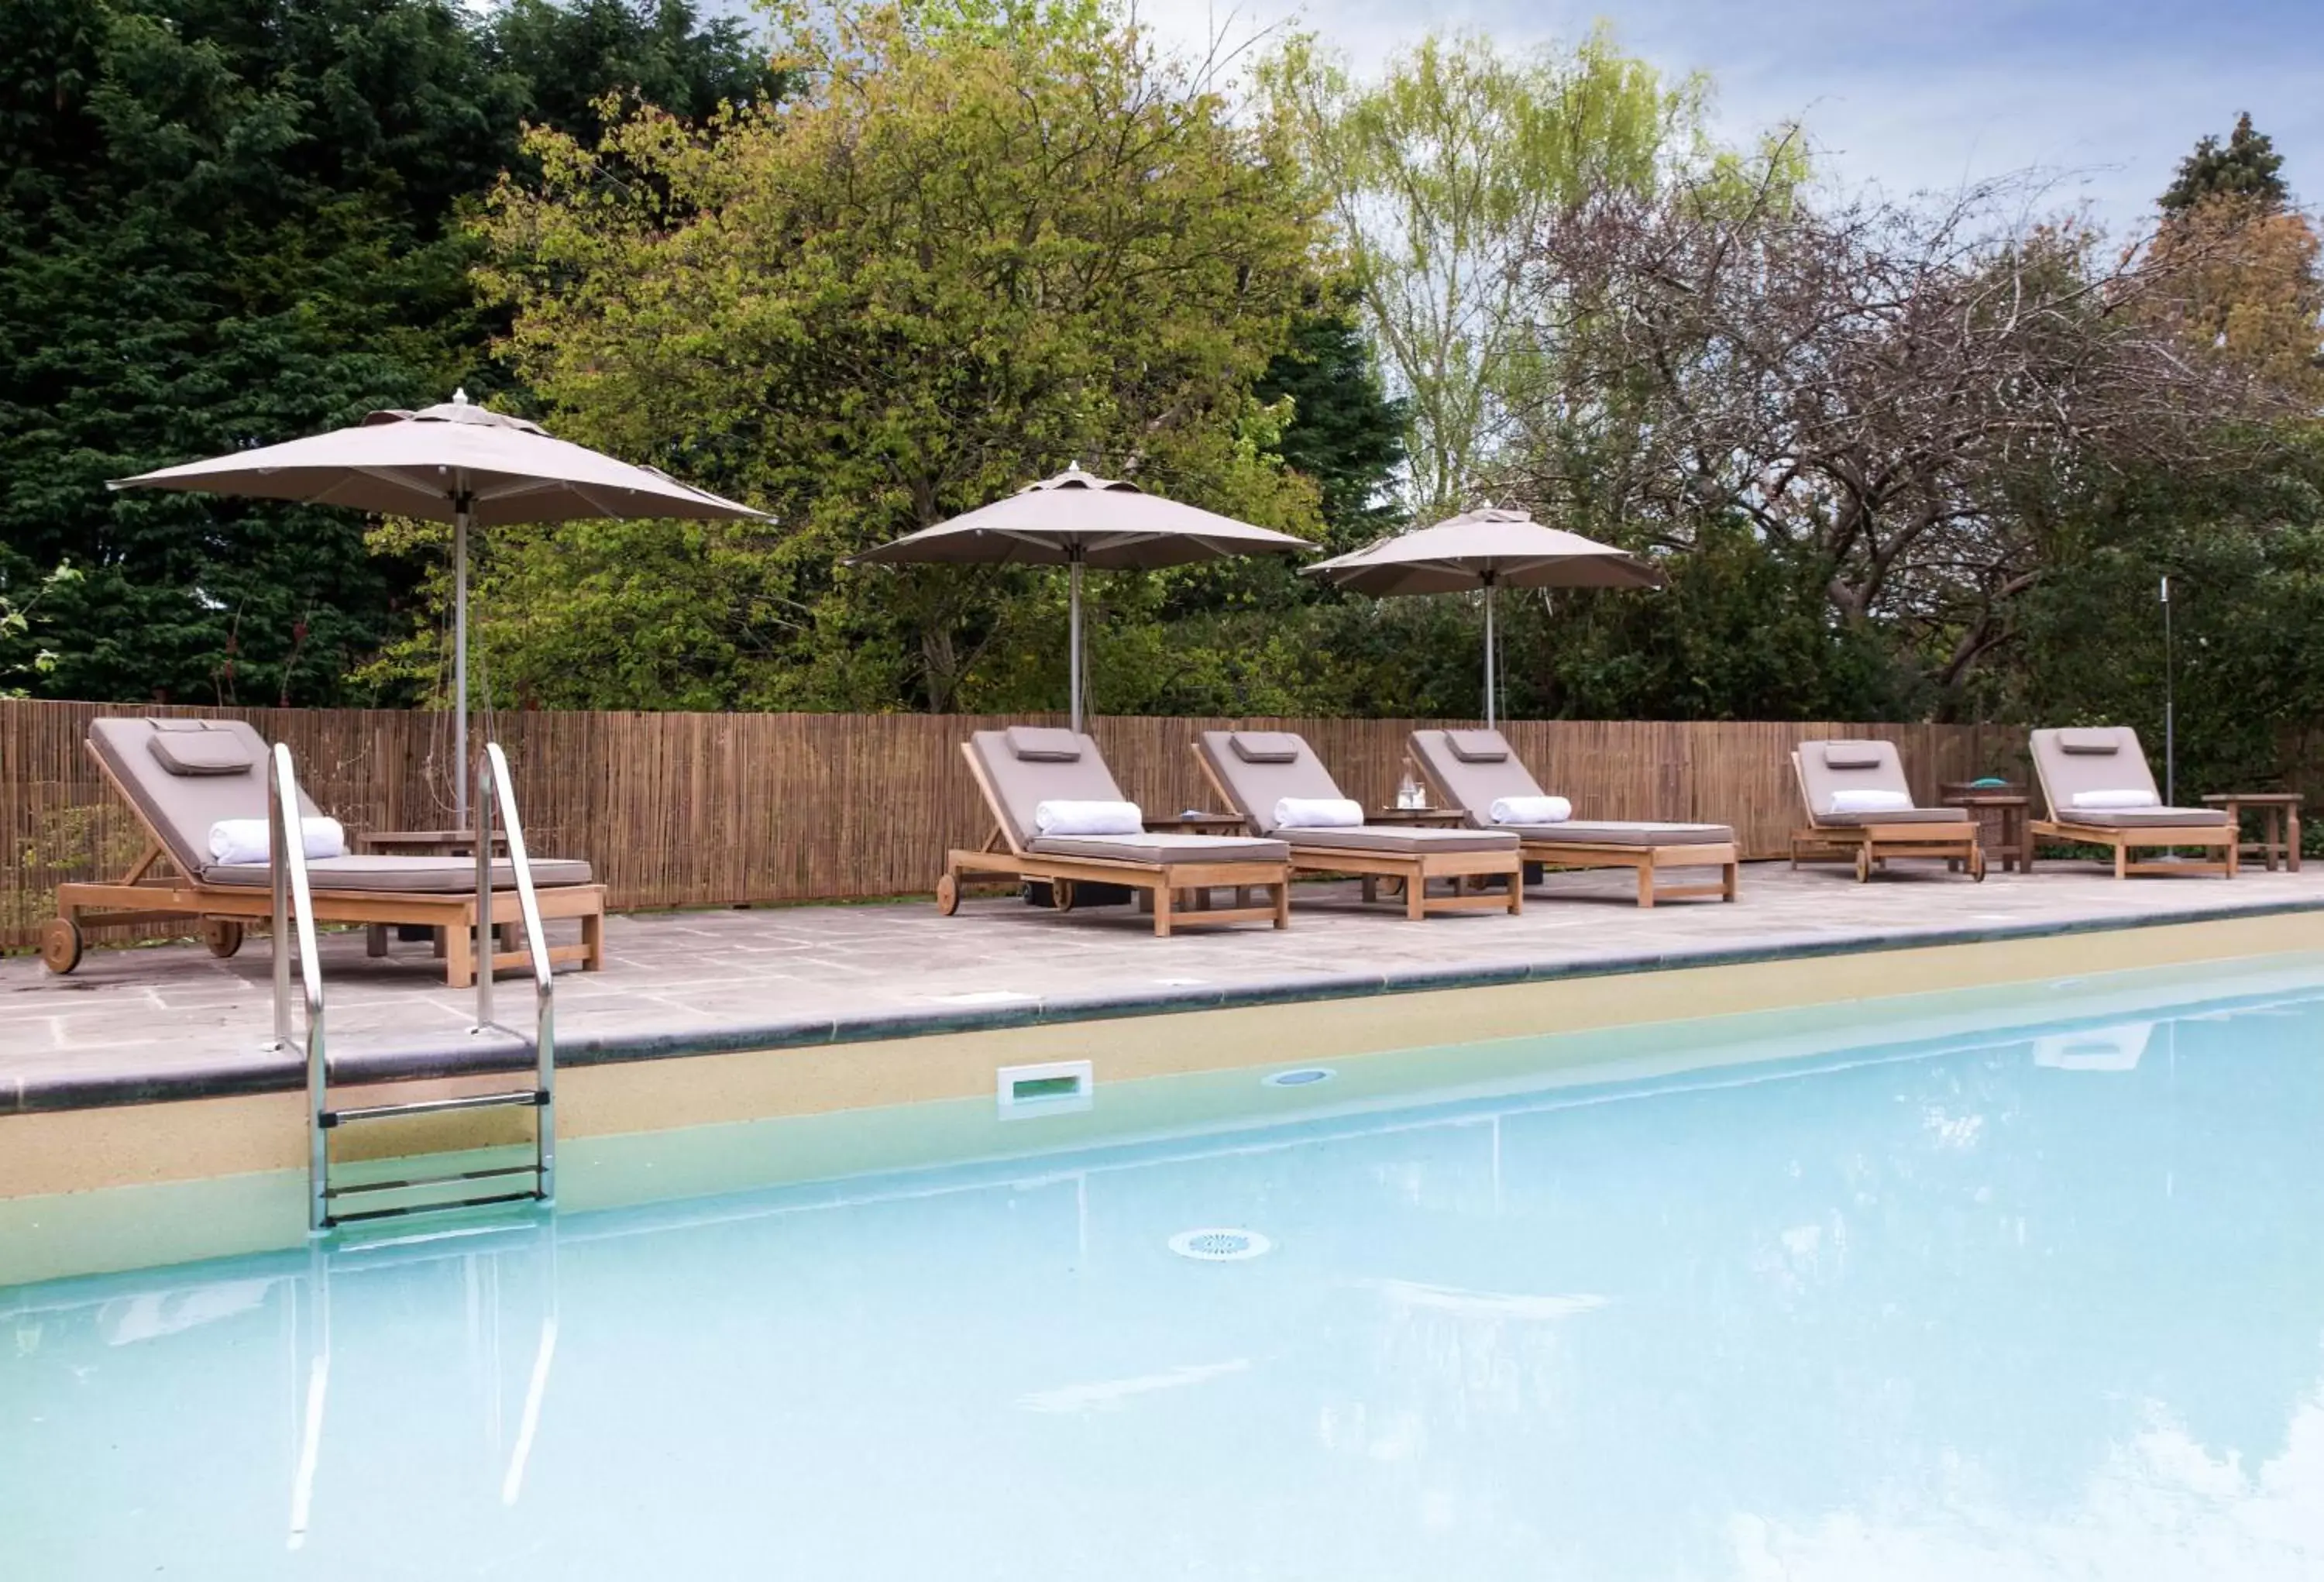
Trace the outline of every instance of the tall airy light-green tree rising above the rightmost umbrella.
{"type": "Polygon", "coordinates": [[[1703,84],[1666,84],[1604,33],[1564,56],[1429,37],[1376,84],[1292,39],[1267,81],[1301,132],[1406,402],[1408,509],[1466,509],[1534,351],[1518,258],[1592,193],[1652,190],[1664,163],[1701,142],[1703,84]]]}

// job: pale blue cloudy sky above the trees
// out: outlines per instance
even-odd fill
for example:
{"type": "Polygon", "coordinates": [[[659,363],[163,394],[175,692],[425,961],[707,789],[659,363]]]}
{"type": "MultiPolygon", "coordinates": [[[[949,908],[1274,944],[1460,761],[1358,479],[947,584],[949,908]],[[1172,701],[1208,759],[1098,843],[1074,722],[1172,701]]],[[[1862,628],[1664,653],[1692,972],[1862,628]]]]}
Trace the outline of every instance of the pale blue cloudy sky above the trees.
{"type": "Polygon", "coordinates": [[[2043,170],[2129,230],[2205,132],[2250,109],[2324,204],[2324,0],[1136,0],[1178,42],[1304,26],[1376,70],[1429,28],[1571,42],[1606,21],[1669,72],[1708,72],[1745,142],[1803,121],[1843,186],[1892,197],[2043,170]]]}

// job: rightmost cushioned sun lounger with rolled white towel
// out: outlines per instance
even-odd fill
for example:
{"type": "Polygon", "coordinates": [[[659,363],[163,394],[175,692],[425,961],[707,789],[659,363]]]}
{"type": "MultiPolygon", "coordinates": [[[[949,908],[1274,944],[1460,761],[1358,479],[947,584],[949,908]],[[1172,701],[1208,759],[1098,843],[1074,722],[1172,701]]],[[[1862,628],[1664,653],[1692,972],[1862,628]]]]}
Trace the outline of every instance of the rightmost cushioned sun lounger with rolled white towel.
{"type": "Polygon", "coordinates": [[[2115,853],[2115,878],[2131,873],[2236,876],[2236,825],[2224,808],[2166,808],[2154,774],[2129,725],[2033,732],[2033,776],[2050,818],[2027,825],[2029,836],[2080,841],[2115,853]],[[2143,806],[2089,806],[2092,801],[2143,806]],[[2133,850],[2196,846],[2212,853],[2189,862],[2131,862],[2133,850]]]}

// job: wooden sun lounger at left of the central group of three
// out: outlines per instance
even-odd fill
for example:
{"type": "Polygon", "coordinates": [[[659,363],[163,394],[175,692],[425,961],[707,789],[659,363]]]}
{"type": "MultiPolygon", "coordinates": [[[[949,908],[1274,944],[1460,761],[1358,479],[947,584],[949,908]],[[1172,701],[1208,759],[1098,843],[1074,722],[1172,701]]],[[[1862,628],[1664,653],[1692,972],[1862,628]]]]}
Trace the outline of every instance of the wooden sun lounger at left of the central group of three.
{"type": "Polygon", "coordinates": [[[1274,922],[1290,927],[1290,848],[1283,841],[1206,834],[1041,834],[1043,801],[1125,801],[1097,741],[1069,729],[1011,727],[976,732],[960,746],[969,774],[992,808],[992,839],[981,850],[953,850],[937,880],[937,911],[960,908],[967,878],[1039,880],[1057,911],[1071,911],[1074,885],[1127,885],[1153,908],[1155,934],[1195,922],[1274,922]],[[1211,890],[1234,890],[1234,906],[1211,908],[1211,890]],[[1248,894],[1267,890],[1267,906],[1248,894]],[[1183,906],[1190,899],[1192,906],[1183,906]]]}

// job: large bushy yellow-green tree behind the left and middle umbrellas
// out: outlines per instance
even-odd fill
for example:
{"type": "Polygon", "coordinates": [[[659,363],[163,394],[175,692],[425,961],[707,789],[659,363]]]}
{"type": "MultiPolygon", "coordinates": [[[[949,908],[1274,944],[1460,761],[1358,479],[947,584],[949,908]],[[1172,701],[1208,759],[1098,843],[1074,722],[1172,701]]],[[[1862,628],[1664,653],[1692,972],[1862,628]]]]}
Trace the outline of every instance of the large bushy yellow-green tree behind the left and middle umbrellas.
{"type": "Polygon", "coordinates": [[[493,200],[483,279],[558,427],[779,523],[500,534],[486,648],[516,695],[1053,704],[1062,578],[841,560],[1067,462],[1313,532],[1253,395],[1313,283],[1281,125],[1109,12],[869,5],[795,37],[799,98],[541,135],[539,184],[493,200]]]}

